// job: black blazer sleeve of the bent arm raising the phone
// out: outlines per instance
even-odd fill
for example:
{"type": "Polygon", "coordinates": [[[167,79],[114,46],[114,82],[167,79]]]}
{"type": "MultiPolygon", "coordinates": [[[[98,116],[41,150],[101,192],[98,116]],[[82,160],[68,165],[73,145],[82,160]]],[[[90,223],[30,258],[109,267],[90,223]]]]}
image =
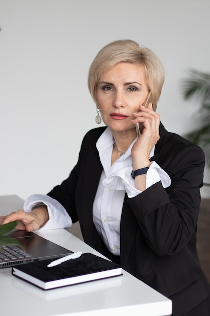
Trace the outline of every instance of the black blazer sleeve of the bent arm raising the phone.
{"type": "Polygon", "coordinates": [[[192,143],[171,149],[167,157],[160,156],[171,186],[164,189],[158,182],[128,203],[149,247],[157,256],[165,257],[179,252],[195,232],[205,157],[192,143]]]}

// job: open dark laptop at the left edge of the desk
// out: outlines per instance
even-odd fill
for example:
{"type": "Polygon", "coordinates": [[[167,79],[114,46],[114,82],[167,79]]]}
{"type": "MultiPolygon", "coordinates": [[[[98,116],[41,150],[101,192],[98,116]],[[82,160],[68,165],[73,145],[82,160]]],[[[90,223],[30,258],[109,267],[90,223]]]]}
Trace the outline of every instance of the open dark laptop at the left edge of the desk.
{"type": "MultiPolygon", "coordinates": [[[[8,197],[0,197],[0,206],[6,204],[6,201],[8,201],[8,197]]],[[[23,203],[17,196],[11,196],[9,201],[12,206],[16,205],[16,208],[13,208],[13,210],[17,209],[17,202],[23,203]]],[[[60,258],[73,253],[33,232],[14,229],[6,235],[17,239],[23,246],[24,251],[17,246],[0,246],[0,269],[27,262],[60,258]]]]}

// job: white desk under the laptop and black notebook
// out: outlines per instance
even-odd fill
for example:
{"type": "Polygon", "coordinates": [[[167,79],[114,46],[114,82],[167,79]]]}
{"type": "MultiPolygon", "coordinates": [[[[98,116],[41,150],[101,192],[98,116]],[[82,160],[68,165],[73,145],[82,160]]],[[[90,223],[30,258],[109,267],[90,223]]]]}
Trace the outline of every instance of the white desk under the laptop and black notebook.
{"type": "MultiPolygon", "coordinates": [[[[0,215],[22,208],[15,195],[0,196],[0,215]]],[[[39,233],[69,250],[97,251],[65,229],[39,233]]],[[[0,270],[1,315],[11,316],[100,316],[170,315],[171,301],[123,270],[123,275],[93,282],[43,291],[11,274],[11,268],[0,270]],[[19,307],[18,307],[19,306],[19,307]]]]}

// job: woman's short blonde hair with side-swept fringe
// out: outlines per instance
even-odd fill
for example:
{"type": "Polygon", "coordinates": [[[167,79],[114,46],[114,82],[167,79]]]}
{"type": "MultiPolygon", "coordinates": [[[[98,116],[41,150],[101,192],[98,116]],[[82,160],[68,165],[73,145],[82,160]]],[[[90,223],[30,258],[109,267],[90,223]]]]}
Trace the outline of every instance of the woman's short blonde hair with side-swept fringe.
{"type": "Polygon", "coordinates": [[[94,58],[88,73],[88,89],[96,103],[96,91],[101,75],[118,63],[143,65],[146,82],[151,90],[151,102],[156,110],[161,95],[165,72],[160,59],[152,50],[133,40],[117,40],[104,46],[94,58]]]}

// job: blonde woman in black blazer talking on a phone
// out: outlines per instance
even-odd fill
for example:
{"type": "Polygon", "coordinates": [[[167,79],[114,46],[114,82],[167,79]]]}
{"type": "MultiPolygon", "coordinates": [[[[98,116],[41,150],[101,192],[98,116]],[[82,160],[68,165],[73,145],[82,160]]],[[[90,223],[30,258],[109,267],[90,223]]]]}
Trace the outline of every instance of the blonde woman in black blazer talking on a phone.
{"type": "Polygon", "coordinates": [[[160,123],[155,110],[163,83],[151,50],[131,40],[102,48],[88,87],[96,121],[102,117],[107,127],[85,135],[61,185],[29,197],[25,211],[2,224],[17,219],[17,228],[31,231],[79,220],[85,242],[172,299],[173,315],[209,315],[210,285],[196,251],[204,154],[160,123]]]}

